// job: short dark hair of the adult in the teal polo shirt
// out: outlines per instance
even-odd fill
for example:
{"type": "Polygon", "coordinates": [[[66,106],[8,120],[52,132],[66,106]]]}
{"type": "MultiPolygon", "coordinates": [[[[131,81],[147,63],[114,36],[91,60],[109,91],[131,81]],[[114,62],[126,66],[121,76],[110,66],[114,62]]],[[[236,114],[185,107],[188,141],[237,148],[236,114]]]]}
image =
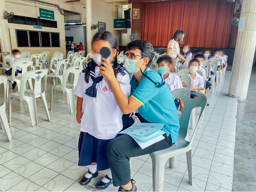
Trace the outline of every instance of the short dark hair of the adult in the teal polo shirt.
{"type": "Polygon", "coordinates": [[[146,65],[146,67],[149,67],[151,65],[151,62],[154,58],[154,48],[151,43],[149,43],[147,40],[135,40],[132,41],[131,43],[127,44],[127,49],[128,50],[135,50],[139,49],[141,52],[141,56],[148,57],[149,62],[146,65]]]}

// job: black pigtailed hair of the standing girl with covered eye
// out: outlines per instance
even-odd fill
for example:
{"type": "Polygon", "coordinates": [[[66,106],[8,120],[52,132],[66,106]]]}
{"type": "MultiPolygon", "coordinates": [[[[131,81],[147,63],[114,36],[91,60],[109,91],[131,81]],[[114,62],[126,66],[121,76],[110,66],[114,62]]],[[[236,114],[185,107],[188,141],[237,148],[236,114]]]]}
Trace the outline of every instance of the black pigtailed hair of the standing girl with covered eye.
{"type": "MultiPolygon", "coordinates": [[[[98,31],[97,33],[94,34],[92,38],[92,45],[93,45],[93,42],[100,41],[100,40],[108,41],[111,44],[112,49],[116,49],[118,51],[118,43],[116,40],[116,36],[113,33],[109,31],[102,31],[102,30],[98,31]]],[[[92,62],[92,66],[96,65],[96,63],[92,59],[91,59],[91,62],[92,62]]],[[[117,73],[118,73],[117,54],[115,56],[115,61],[113,61],[112,64],[113,64],[115,76],[117,76],[117,73]]],[[[89,83],[90,71],[91,71],[91,68],[89,68],[89,70],[87,70],[86,73],[84,74],[84,79],[86,83],[89,83]]]]}

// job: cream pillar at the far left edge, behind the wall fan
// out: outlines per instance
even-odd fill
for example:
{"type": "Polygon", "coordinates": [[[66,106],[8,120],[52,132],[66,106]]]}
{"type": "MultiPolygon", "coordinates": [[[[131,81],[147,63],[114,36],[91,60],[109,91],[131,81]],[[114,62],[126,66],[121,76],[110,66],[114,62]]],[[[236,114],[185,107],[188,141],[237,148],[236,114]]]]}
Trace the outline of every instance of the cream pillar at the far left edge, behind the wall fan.
{"type": "MultiPolygon", "coordinates": [[[[3,10],[5,8],[5,0],[0,0],[0,44],[2,52],[11,52],[11,39],[8,29],[8,20],[4,19],[3,10]]],[[[8,10],[10,11],[10,10],[8,10]]]]}

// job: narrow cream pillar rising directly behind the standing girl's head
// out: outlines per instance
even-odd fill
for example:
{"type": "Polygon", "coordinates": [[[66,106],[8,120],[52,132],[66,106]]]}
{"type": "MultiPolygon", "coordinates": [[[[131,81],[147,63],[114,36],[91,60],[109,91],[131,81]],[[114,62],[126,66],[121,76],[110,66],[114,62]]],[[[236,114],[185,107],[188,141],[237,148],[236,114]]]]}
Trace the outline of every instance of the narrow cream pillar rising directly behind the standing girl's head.
{"type": "Polygon", "coordinates": [[[92,0],[86,0],[86,44],[87,53],[92,50],[92,0]]]}

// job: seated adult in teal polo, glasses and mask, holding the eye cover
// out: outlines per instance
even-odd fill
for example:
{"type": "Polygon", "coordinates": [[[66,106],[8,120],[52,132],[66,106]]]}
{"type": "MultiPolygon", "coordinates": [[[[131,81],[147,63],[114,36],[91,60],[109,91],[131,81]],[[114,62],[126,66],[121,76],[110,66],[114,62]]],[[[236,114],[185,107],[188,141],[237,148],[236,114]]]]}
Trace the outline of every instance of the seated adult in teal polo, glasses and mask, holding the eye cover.
{"type": "Polygon", "coordinates": [[[153,46],[146,40],[132,41],[127,45],[128,52],[124,67],[134,76],[131,80],[131,96],[127,98],[116,81],[111,65],[106,62],[100,67],[101,74],[108,82],[116,102],[123,114],[124,129],[134,121],[129,114],[139,108],[137,115],[141,122],[161,123],[165,132],[164,140],[141,149],[140,146],[127,134],[121,135],[108,143],[107,154],[110,164],[113,185],[120,186],[118,191],[136,191],[131,180],[129,159],[134,156],[149,154],[171,147],[178,138],[180,128],[177,109],[172,93],[164,84],[161,75],[149,69],[154,57],[153,46]]]}

